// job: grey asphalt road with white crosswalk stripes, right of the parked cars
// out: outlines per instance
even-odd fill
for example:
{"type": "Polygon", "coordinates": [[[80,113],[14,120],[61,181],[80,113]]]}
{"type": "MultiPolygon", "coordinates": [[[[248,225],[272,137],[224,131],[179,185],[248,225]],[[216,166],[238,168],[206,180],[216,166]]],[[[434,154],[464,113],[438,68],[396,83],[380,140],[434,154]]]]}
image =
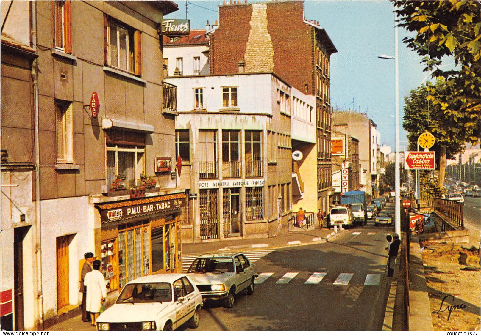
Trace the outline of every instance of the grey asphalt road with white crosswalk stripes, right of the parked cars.
{"type": "Polygon", "coordinates": [[[265,255],[257,271],[273,274],[255,285],[253,295],[238,294],[232,309],[206,303],[197,330],[380,330],[388,283],[385,237],[392,231],[370,220],[339,240],[265,255]],[[287,283],[276,283],[289,275],[287,283]],[[315,284],[305,284],[308,279],[315,284]]]}

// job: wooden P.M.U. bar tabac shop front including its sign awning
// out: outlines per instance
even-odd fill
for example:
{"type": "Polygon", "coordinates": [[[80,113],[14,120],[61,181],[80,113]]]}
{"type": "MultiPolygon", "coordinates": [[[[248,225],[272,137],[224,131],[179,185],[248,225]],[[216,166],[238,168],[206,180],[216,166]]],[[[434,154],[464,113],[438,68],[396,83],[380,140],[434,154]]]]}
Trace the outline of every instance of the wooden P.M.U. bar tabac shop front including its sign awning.
{"type": "Polygon", "coordinates": [[[109,293],[118,293],[139,276],[182,270],[180,223],[185,205],[184,193],[95,204],[109,293]]]}

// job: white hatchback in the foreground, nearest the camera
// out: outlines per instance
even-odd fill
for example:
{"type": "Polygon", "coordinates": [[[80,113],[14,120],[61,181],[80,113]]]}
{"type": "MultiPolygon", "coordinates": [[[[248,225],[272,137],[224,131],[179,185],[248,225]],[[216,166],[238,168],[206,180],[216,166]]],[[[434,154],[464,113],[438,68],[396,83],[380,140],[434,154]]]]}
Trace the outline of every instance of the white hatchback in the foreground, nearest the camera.
{"type": "Polygon", "coordinates": [[[199,326],[202,296],[186,274],[142,276],[125,285],[97,318],[97,330],[174,330],[199,326]]]}

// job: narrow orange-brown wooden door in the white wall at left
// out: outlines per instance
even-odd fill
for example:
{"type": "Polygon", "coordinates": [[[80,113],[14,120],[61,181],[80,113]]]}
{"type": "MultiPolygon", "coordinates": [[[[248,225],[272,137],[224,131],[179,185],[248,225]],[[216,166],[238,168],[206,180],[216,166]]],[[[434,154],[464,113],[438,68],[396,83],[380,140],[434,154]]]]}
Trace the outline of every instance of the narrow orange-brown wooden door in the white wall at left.
{"type": "Polygon", "coordinates": [[[57,237],[57,309],[68,303],[68,236],[63,236],[57,237]]]}

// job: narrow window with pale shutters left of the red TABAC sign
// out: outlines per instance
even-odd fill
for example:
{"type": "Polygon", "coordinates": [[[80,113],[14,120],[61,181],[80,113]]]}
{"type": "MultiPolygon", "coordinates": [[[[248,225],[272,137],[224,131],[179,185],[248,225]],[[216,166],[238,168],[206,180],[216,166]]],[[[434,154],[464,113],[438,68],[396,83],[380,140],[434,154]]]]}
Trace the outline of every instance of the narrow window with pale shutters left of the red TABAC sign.
{"type": "Polygon", "coordinates": [[[74,123],[72,103],[55,100],[57,162],[74,162],[74,123]]]}

